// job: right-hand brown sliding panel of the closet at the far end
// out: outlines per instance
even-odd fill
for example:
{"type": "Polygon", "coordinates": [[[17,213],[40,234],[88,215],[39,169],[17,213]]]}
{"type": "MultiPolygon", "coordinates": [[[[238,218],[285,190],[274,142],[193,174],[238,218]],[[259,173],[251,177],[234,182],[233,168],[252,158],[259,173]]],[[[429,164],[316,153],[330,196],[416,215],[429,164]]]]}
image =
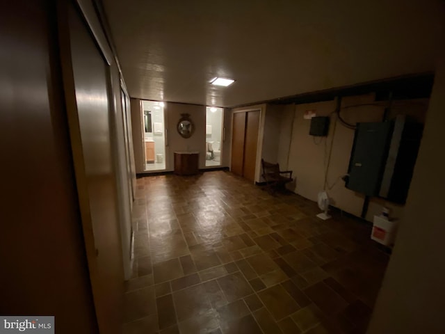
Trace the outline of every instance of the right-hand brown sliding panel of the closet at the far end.
{"type": "Polygon", "coordinates": [[[257,166],[259,111],[246,113],[243,177],[254,182],[257,166]]]}

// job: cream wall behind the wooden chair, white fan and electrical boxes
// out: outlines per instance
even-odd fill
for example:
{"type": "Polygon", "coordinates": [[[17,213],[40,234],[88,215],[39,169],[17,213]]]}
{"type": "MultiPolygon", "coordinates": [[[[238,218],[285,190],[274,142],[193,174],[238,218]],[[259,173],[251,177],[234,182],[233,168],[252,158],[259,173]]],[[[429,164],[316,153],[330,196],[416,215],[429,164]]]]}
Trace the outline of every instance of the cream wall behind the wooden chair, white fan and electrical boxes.
{"type": "MultiPolygon", "coordinates": [[[[343,97],[341,101],[342,118],[351,123],[380,122],[387,103],[379,102],[375,104],[373,101],[373,94],[343,97]],[[356,106],[357,104],[374,105],[356,106]]],[[[428,100],[395,101],[391,106],[389,119],[398,114],[404,114],[423,122],[427,106],[428,100]]],[[[314,201],[317,200],[318,192],[324,189],[325,171],[327,170],[327,193],[330,196],[331,204],[350,214],[360,216],[364,196],[350,191],[340,180],[342,175],[348,173],[354,130],[344,127],[337,121],[337,115],[332,114],[335,108],[336,102],[333,100],[286,106],[281,112],[277,161],[280,162],[282,169],[293,170],[293,176],[296,177],[296,188],[289,189],[314,201]],[[331,117],[327,137],[314,138],[309,136],[310,120],[303,118],[307,110],[314,110],[316,116],[331,117]],[[331,159],[327,168],[331,143],[331,159]],[[289,164],[286,166],[288,160],[289,164]]],[[[383,206],[389,207],[391,216],[403,217],[403,205],[372,198],[366,220],[372,221],[375,214],[380,214],[383,206]]]]}

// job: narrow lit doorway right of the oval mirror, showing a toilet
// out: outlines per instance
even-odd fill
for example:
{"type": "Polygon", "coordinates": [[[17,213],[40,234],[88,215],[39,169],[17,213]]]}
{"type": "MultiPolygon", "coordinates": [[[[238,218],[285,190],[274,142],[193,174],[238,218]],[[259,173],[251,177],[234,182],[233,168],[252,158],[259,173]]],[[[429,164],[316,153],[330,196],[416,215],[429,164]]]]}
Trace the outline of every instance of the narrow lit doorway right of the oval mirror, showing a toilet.
{"type": "Polygon", "coordinates": [[[223,108],[206,108],[206,167],[221,166],[223,108]]]}

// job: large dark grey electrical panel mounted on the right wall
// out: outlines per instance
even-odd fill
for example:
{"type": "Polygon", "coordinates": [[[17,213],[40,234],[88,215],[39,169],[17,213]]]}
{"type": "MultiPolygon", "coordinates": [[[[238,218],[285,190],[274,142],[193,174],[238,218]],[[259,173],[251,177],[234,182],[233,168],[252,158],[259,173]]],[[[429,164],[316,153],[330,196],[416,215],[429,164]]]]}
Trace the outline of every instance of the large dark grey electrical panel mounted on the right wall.
{"type": "Polygon", "coordinates": [[[358,123],[346,187],[405,203],[421,134],[422,125],[404,116],[392,122],[358,123]]]}

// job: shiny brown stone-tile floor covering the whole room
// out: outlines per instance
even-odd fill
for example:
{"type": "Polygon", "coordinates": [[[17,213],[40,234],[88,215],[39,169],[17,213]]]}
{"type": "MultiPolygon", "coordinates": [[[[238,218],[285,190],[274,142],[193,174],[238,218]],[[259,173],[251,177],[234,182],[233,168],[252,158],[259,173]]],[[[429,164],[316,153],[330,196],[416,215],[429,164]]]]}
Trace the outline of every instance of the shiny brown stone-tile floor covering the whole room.
{"type": "Polygon", "coordinates": [[[137,184],[124,334],[365,332],[388,261],[368,225],[225,171],[137,184]]]}

